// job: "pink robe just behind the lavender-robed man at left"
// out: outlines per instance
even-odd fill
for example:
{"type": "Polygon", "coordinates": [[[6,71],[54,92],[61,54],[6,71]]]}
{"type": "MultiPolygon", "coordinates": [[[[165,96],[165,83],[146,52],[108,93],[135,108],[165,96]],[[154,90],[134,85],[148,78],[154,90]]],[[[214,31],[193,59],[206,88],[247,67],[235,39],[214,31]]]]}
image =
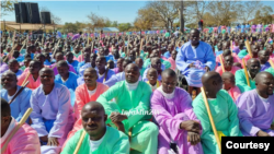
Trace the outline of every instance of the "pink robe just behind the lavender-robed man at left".
{"type": "MultiPolygon", "coordinates": [[[[30,71],[23,72],[19,78],[18,78],[18,85],[22,86],[22,83],[25,81],[25,78],[27,76],[30,71]]],[[[31,88],[32,91],[37,88],[41,85],[41,80],[39,75],[36,81],[34,81],[33,75],[30,74],[26,81],[30,81],[30,83],[26,85],[26,87],[31,88]]]]}

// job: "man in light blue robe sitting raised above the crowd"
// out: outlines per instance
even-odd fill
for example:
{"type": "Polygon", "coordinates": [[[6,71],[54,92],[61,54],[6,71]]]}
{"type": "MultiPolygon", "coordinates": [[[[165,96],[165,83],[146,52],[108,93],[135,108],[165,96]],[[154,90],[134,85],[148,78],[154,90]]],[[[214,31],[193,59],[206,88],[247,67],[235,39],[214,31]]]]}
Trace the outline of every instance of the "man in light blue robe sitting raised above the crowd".
{"type": "MultiPolygon", "coordinates": [[[[205,72],[214,71],[216,59],[210,45],[199,40],[199,31],[192,29],[190,42],[185,43],[176,55],[176,67],[185,76],[191,94],[193,87],[201,87],[201,78],[205,72]]],[[[180,81],[181,82],[181,81],[180,81]]],[[[199,88],[197,88],[199,93],[199,88]]]]}

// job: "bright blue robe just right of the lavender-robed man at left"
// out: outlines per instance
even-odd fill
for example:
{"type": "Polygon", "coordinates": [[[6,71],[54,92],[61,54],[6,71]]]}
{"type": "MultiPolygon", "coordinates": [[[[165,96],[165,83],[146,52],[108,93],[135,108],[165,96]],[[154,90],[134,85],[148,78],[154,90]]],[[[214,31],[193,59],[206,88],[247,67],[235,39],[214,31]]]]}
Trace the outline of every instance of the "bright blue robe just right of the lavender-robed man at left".
{"type": "Polygon", "coordinates": [[[69,78],[65,82],[61,80],[60,74],[55,75],[55,82],[56,83],[66,85],[68,88],[71,88],[72,91],[76,91],[76,88],[78,86],[78,84],[76,82],[77,79],[78,79],[78,75],[76,73],[73,73],[73,72],[69,72],[69,78]]]}

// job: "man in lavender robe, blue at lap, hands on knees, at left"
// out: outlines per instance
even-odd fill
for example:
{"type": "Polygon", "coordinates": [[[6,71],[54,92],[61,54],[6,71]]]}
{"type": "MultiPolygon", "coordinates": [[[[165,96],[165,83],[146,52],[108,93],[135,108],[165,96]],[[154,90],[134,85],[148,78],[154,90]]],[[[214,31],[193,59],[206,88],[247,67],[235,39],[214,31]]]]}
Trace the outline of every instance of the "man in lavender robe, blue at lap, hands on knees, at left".
{"type": "Polygon", "coordinates": [[[65,85],[54,82],[52,69],[42,69],[39,78],[42,85],[31,96],[32,127],[41,139],[42,153],[59,153],[75,122],[70,93],[65,85]]]}

